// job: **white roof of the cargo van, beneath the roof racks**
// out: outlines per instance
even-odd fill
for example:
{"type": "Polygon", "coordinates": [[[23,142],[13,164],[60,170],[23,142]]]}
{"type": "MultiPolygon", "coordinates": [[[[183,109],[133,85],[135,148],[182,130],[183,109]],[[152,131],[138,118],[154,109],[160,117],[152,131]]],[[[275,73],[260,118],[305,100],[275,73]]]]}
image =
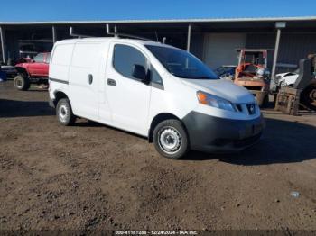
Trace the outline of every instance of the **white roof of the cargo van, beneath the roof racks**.
{"type": "MultiPolygon", "coordinates": [[[[172,47],[168,44],[163,44],[159,41],[144,41],[144,40],[135,40],[135,39],[121,39],[116,37],[96,37],[96,38],[82,38],[82,39],[68,39],[68,40],[62,40],[57,41],[56,44],[62,44],[62,43],[76,43],[79,41],[98,41],[98,42],[108,42],[108,41],[121,41],[121,42],[134,42],[137,44],[142,45],[156,45],[156,46],[162,46],[162,47],[172,47]]],[[[173,47],[172,47],[173,48],[173,47]]]]}

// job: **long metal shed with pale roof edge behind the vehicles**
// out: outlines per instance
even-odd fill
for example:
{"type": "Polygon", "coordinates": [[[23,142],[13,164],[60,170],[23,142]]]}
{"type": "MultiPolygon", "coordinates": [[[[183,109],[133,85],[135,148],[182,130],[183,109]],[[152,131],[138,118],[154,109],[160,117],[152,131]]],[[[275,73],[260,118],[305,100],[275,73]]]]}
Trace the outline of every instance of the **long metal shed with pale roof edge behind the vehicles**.
{"type": "Polygon", "coordinates": [[[237,48],[271,49],[269,67],[275,64],[276,71],[293,70],[299,59],[316,52],[316,17],[0,22],[0,61],[7,63],[27,54],[49,51],[54,41],[71,38],[70,27],[80,34],[106,37],[107,23],[116,26],[118,32],[154,41],[165,37],[166,43],[190,50],[210,68],[236,65],[237,48]]]}

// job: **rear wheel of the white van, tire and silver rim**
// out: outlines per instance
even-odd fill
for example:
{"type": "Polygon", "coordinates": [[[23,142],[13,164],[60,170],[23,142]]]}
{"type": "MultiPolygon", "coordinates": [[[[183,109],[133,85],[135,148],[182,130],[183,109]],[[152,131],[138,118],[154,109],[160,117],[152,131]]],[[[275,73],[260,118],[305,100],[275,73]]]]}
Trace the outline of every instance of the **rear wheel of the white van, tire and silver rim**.
{"type": "Polygon", "coordinates": [[[62,98],[56,105],[56,116],[59,123],[69,126],[75,123],[76,116],[72,113],[70,100],[62,98]]]}

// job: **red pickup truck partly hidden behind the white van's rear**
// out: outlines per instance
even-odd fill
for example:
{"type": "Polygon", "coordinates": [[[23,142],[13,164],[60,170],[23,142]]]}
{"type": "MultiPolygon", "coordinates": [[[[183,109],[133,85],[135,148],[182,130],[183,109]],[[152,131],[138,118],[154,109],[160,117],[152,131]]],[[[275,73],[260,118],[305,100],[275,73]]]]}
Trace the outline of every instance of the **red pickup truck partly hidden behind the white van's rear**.
{"type": "Polygon", "coordinates": [[[36,55],[29,62],[15,65],[18,75],[14,77],[14,86],[18,90],[28,90],[31,84],[47,84],[51,52],[36,55]]]}

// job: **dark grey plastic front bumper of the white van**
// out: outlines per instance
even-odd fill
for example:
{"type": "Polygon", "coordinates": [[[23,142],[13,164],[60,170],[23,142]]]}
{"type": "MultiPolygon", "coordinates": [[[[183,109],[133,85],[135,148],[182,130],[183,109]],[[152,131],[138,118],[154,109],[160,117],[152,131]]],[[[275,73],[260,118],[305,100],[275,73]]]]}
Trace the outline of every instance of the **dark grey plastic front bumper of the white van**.
{"type": "Polygon", "coordinates": [[[191,112],[183,119],[191,150],[236,152],[259,141],[265,127],[261,116],[253,120],[230,120],[191,112]]]}

